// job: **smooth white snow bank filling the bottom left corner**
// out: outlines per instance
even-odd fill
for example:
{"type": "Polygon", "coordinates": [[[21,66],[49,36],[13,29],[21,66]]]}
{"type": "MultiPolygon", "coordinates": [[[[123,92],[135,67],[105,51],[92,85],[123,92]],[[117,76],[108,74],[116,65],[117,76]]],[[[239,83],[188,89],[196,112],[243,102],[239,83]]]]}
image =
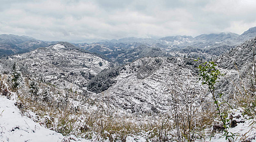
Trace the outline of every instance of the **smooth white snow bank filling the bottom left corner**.
{"type": "MultiPolygon", "coordinates": [[[[35,123],[20,114],[16,101],[0,96],[0,141],[1,142],[62,142],[66,137],[35,123]]],[[[76,140],[77,138],[75,138],[76,140]]],[[[74,141],[74,140],[73,140],[74,141]]],[[[80,142],[88,142],[81,139],[80,142]]]]}

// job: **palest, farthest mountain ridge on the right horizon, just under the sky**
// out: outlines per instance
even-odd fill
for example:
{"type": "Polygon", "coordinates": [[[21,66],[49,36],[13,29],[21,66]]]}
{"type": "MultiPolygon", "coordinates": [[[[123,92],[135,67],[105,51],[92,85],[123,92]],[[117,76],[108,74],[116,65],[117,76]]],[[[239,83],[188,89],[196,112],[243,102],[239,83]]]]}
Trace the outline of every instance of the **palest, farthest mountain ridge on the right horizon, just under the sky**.
{"type": "MultiPolygon", "coordinates": [[[[201,34],[196,37],[191,36],[170,36],[170,37],[163,37],[160,39],[150,39],[150,38],[136,38],[136,37],[129,37],[123,38],[119,40],[106,40],[109,43],[144,43],[144,44],[156,44],[161,43],[163,45],[176,45],[176,46],[199,46],[203,47],[204,44],[212,45],[220,45],[227,44],[227,45],[238,45],[243,43],[244,41],[251,39],[256,34],[256,27],[249,28],[249,30],[243,32],[243,34],[235,34],[232,32],[221,32],[219,34],[201,34]]],[[[103,43],[103,42],[101,42],[103,43]]]]}

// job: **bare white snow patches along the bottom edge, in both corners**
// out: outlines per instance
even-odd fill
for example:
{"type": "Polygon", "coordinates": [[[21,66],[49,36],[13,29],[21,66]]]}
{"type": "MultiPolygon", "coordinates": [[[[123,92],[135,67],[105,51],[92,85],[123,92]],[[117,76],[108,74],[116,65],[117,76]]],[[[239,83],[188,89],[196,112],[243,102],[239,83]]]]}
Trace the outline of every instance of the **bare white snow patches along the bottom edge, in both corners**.
{"type": "MultiPolygon", "coordinates": [[[[22,116],[20,110],[14,105],[15,102],[15,100],[0,96],[0,142],[66,142],[68,138],[70,142],[92,141],[76,138],[75,136],[65,137],[61,133],[42,127],[30,118],[22,116]]],[[[236,127],[229,130],[232,133],[239,133],[240,136],[238,138],[235,136],[235,141],[239,141],[241,137],[246,137],[250,142],[256,142],[256,131],[248,123],[249,121],[245,120],[245,123],[238,123],[236,127]]],[[[207,141],[226,142],[227,140],[220,133],[207,141]]],[[[126,142],[146,142],[146,140],[143,137],[133,138],[128,136],[126,142]]]]}

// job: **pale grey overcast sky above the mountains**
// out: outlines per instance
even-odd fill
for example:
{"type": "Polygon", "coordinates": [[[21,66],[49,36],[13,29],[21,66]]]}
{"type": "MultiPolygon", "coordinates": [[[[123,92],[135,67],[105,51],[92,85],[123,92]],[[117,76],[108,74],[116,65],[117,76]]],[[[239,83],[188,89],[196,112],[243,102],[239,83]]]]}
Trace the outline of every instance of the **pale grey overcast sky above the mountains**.
{"type": "Polygon", "coordinates": [[[0,0],[0,34],[69,42],[242,34],[255,14],[256,0],[0,0]]]}

